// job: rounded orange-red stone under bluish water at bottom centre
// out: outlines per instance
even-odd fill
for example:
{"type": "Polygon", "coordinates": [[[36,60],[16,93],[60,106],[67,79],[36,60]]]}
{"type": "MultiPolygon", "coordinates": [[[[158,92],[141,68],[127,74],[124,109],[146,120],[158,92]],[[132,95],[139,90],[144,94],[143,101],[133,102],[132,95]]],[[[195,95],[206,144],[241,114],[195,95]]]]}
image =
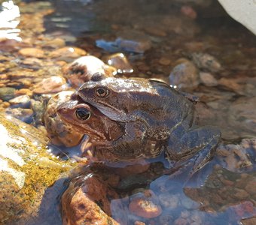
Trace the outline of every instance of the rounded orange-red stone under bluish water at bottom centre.
{"type": "Polygon", "coordinates": [[[133,214],[145,218],[158,217],[162,213],[162,208],[152,191],[136,194],[130,202],[129,209],[133,214]]]}

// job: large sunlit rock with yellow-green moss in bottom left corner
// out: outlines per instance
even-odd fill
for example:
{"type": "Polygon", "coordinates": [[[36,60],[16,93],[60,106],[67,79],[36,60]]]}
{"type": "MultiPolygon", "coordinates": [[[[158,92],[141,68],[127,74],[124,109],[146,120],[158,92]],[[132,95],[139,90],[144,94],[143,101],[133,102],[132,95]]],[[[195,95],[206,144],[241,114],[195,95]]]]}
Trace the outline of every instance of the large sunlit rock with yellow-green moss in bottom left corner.
{"type": "Polygon", "coordinates": [[[59,224],[55,206],[62,183],[54,183],[71,164],[50,156],[47,138],[29,124],[0,113],[0,130],[0,221],[59,224]]]}

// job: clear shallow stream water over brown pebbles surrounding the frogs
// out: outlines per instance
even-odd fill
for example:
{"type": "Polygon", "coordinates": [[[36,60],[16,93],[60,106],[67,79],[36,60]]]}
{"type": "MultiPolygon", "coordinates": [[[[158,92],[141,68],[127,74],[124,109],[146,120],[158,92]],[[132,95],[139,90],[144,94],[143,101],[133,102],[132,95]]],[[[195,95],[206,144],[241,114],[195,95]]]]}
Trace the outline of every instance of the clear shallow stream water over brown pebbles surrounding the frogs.
{"type": "MultiPolygon", "coordinates": [[[[61,55],[52,60],[50,52],[54,48],[46,43],[53,37],[60,37],[66,41],[66,46],[78,46],[99,58],[111,52],[123,52],[134,70],[133,74],[124,75],[159,78],[166,82],[178,59],[187,58],[196,63],[195,52],[208,53],[215,56],[221,68],[209,69],[209,66],[200,68],[200,72],[210,74],[217,83],[207,85],[201,80],[196,87],[183,89],[200,98],[197,104],[199,123],[218,126],[224,143],[236,144],[241,139],[255,138],[256,37],[230,19],[217,3],[211,7],[192,5],[197,13],[194,18],[193,13],[187,16],[182,13],[181,7],[185,4],[179,1],[21,1],[17,5],[13,1],[2,2],[0,21],[8,19],[9,22],[0,22],[0,38],[11,37],[19,42],[0,42],[1,87],[28,89],[29,92],[42,79],[61,75],[62,62],[72,62],[74,58],[61,55]],[[10,18],[5,16],[8,10],[10,18]],[[119,46],[115,42],[117,38],[135,40],[142,46],[119,46]],[[43,56],[35,60],[35,55],[17,54],[24,46],[44,49],[43,56]],[[26,58],[30,61],[25,62],[26,58]]],[[[40,95],[32,95],[32,98],[41,98],[40,95]]],[[[2,110],[9,107],[6,102],[8,100],[1,102],[2,110]]],[[[38,114],[35,107],[32,110],[38,114]]],[[[31,120],[37,127],[42,125],[36,116],[31,120]]],[[[245,149],[244,154],[255,162],[254,145],[250,143],[245,149]]],[[[160,175],[161,168],[152,172],[154,175],[144,172],[139,178],[137,175],[121,178],[125,188],[118,193],[123,208],[115,207],[113,201],[113,217],[119,217],[123,224],[136,224],[136,221],[240,224],[246,217],[255,217],[256,193],[251,190],[256,179],[255,166],[230,166],[242,160],[237,152],[232,154],[232,160],[228,161],[219,153],[192,181],[179,174],[174,178],[160,175]],[[136,184],[138,180],[143,181],[136,184]],[[136,196],[143,198],[148,189],[156,196],[156,205],[162,208],[160,216],[139,217],[128,209],[130,202],[136,196]],[[126,216],[120,218],[120,214],[126,216]]]]}

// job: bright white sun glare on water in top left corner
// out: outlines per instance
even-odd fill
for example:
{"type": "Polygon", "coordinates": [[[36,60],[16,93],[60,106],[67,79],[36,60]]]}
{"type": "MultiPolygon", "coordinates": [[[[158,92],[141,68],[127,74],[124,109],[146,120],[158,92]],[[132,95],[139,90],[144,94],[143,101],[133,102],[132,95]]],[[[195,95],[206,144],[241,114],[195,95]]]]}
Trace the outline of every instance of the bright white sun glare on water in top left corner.
{"type": "Polygon", "coordinates": [[[20,10],[14,1],[4,1],[0,7],[0,39],[8,38],[21,40],[19,37],[20,29],[20,10]]]}

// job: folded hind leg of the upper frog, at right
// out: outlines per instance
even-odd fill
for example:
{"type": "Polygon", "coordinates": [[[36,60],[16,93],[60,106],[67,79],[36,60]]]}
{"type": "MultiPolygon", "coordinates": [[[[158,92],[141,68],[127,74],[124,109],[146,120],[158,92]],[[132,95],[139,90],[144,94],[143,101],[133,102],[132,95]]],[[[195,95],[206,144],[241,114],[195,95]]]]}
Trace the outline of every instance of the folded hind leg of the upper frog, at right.
{"type": "Polygon", "coordinates": [[[211,160],[221,133],[215,127],[197,127],[184,130],[178,127],[169,137],[166,154],[178,163],[193,163],[192,173],[211,160]]]}

